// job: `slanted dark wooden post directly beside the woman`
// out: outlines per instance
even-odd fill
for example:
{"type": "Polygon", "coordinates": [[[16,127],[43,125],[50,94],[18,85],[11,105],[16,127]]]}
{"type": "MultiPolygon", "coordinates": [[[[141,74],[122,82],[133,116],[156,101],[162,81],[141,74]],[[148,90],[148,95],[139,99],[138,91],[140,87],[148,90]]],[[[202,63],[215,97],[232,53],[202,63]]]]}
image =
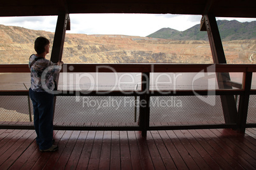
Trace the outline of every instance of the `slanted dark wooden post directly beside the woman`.
{"type": "MultiPolygon", "coordinates": [[[[68,13],[60,13],[57,20],[57,25],[55,29],[53,46],[52,46],[52,54],[50,60],[53,63],[57,63],[62,60],[62,52],[64,48],[64,41],[66,36],[66,30],[69,27],[69,14],[68,13]]],[[[58,86],[59,83],[59,74],[54,75],[54,79],[57,82],[55,85],[58,86]]],[[[57,89],[57,87],[55,87],[57,89]]],[[[53,118],[55,112],[55,103],[56,96],[54,97],[54,106],[53,106],[53,118]]]]}

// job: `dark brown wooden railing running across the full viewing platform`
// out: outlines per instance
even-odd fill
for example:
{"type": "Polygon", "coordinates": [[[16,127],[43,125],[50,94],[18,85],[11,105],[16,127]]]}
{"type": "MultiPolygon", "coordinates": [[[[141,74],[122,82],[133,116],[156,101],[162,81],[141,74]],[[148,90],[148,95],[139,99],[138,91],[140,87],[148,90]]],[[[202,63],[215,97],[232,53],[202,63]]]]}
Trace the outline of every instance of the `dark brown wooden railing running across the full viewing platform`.
{"type": "MultiPolygon", "coordinates": [[[[139,96],[140,101],[146,101],[145,107],[139,108],[138,126],[57,126],[55,129],[66,130],[136,130],[142,131],[146,136],[148,130],[164,129],[209,129],[209,128],[232,128],[245,132],[245,128],[256,127],[256,124],[246,124],[248,103],[250,95],[256,95],[251,89],[252,74],[256,72],[255,65],[228,65],[228,64],[67,64],[62,72],[139,72],[141,73],[141,89],[139,91],[109,91],[107,94],[99,91],[57,91],[56,96],[139,96]],[[111,69],[110,69],[111,68],[111,69]],[[228,86],[238,89],[202,89],[202,90],[176,90],[175,93],[162,93],[168,91],[154,91],[149,88],[150,73],[152,72],[242,72],[241,84],[232,81],[223,82],[228,86]],[[211,93],[214,92],[214,93],[211,93]],[[150,126],[150,97],[151,96],[195,96],[195,95],[239,95],[239,107],[237,122],[225,122],[225,124],[197,124],[185,126],[150,126]]],[[[30,72],[27,65],[0,65],[0,72],[30,72]]],[[[28,96],[28,91],[0,91],[0,95],[28,96]]],[[[8,129],[33,129],[31,125],[11,126],[0,125],[0,128],[8,129]]]]}

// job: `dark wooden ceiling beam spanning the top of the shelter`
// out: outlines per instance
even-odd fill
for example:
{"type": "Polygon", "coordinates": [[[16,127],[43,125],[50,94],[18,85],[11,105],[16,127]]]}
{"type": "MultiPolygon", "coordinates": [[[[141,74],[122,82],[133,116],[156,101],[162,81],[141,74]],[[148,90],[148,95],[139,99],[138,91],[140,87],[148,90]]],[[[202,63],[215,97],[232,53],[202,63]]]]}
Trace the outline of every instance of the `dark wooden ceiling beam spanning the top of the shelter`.
{"type": "Polygon", "coordinates": [[[241,0],[8,0],[0,2],[0,16],[45,16],[59,13],[171,13],[256,18],[256,1],[241,0]]]}

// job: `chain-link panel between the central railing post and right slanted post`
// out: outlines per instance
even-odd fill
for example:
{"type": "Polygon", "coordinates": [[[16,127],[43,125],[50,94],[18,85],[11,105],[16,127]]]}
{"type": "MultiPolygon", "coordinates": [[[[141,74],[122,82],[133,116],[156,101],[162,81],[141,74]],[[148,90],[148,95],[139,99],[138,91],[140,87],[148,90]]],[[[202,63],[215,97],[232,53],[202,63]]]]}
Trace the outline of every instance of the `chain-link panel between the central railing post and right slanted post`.
{"type": "Polygon", "coordinates": [[[150,103],[150,122],[224,122],[220,96],[154,96],[150,103]]]}

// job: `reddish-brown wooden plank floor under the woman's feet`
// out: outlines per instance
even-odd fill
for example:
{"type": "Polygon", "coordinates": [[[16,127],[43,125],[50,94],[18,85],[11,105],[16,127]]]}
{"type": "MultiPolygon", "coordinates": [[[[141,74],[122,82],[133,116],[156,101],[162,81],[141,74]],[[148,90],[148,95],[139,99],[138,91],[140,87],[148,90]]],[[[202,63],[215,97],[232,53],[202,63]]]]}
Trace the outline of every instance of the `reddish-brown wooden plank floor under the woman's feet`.
{"type": "Polygon", "coordinates": [[[256,169],[256,128],[54,131],[39,152],[34,130],[0,129],[0,169],[256,169]]]}

